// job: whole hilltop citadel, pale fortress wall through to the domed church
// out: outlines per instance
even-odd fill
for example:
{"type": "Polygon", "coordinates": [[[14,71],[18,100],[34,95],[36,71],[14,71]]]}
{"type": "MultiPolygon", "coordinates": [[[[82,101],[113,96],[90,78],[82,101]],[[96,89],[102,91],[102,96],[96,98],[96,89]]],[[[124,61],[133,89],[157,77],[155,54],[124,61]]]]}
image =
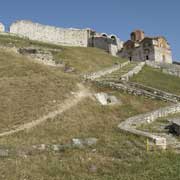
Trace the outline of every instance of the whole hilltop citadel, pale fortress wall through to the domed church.
{"type": "MultiPolygon", "coordinates": [[[[2,23],[0,23],[0,32],[5,32],[2,23]]],[[[124,43],[116,35],[98,33],[89,28],[58,28],[20,20],[10,26],[9,33],[63,46],[96,47],[113,56],[127,58],[130,61],[172,63],[172,53],[166,38],[163,36],[146,37],[141,30],[132,32],[131,40],[124,43]]]]}

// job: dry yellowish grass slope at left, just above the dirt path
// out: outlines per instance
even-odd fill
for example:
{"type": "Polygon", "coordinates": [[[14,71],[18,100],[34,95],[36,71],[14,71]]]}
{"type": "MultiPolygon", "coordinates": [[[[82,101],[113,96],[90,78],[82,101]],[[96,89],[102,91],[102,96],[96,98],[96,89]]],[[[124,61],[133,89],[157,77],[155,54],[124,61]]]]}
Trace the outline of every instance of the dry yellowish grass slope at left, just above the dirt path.
{"type": "Polygon", "coordinates": [[[0,51],[0,130],[51,111],[77,89],[77,81],[56,68],[0,51]]]}

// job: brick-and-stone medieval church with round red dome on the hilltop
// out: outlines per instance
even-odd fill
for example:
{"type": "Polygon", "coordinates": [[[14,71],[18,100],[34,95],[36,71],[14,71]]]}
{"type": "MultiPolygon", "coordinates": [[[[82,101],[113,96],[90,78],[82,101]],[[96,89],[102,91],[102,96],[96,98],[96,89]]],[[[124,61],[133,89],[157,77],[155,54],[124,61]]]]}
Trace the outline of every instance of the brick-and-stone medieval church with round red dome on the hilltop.
{"type": "Polygon", "coordinates": [[[118,56],[130,61],[172,63],[170,45],[163,36],[148,37],[141,30],[131,33],[131,40],[123,44],[118,56]]]}

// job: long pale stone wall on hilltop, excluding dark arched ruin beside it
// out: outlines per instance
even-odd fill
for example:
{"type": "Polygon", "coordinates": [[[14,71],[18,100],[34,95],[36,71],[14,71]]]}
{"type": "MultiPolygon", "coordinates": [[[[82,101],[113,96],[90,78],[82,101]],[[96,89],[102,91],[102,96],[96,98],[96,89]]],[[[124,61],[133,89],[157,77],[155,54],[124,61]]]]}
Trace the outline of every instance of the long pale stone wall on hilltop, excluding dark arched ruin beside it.
{"type": "Polygon", "coordinates": [[[88,29],[56,28],[23,20],[13,23],[10,26],[10,33],[47,43],[82,47],[88,46],[90,36],[88,29]]]}

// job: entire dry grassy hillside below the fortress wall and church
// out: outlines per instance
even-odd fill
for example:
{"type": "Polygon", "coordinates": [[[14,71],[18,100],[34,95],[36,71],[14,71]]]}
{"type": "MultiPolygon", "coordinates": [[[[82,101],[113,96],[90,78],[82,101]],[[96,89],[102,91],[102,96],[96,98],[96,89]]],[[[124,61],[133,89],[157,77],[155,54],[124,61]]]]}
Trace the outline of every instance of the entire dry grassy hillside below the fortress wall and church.
{"type": "MultiPolygon", "coordinates": [[[[146,138],[117,128],[128,117],[171,103],[82,80],[82,74],[127,60],[95,48],[55,46],[7,35],[0,35],[0,43],[6,47],[46,49],[57,62],[74,68],[65,72],[64,67],[43,65],[1,48],[0,134],[40,121],[0,137],[0,179],[179,179],[180,159],[173,149],[147,152],[146,138]],[[100,92],[115,96],[119,103],[101,105],[94,96],[100,92]],[[73,138],[96,138],[97,143],[74,147],[73,138]]],[[[120,77],[135,65],[129,64],[112,75],[120,77]]],[[[133,81],[163,90],[168,85],[168,91],[178,94],[179,78],[149,67],[143,68],[133,81]]]]}

